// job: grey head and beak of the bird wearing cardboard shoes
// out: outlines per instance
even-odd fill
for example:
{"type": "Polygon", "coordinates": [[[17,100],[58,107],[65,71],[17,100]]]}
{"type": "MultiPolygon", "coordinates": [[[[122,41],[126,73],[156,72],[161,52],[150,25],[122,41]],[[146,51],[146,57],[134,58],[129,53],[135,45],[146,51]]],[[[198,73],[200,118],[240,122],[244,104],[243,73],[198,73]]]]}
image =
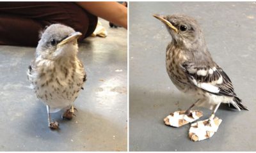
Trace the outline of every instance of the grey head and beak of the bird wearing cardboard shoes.
{"type": "Polygon", "coordinates": [[[191,45],[204,45],[204,35],[194,18],[187,15],[153,16],[166,25],[175,43],[188,48],[191,48],[191,45]]]}

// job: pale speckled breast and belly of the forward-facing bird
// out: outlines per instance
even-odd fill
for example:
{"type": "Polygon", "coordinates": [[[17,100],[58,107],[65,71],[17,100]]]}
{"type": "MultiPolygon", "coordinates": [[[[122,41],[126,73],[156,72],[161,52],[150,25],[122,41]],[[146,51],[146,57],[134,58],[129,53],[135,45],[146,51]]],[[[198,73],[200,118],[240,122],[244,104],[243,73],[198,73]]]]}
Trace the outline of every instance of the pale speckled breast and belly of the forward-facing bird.
{"type": "MultiPolygon", "coordinates": [[[[67,64],[67,62],[66,62],[67,64]]],[[[84,69],[81,62],[75,66],[65,64],[37,66],[32,84],[36,96],[51,108],[65,108],[77,98],[83,87],[84,69]]]]}

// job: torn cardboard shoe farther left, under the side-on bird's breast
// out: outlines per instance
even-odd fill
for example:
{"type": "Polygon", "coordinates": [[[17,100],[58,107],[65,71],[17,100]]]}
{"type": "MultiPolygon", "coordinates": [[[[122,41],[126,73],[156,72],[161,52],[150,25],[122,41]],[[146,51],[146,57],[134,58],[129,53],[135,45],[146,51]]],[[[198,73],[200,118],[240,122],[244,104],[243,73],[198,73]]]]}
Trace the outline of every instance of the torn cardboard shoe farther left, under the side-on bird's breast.
{"type": "Polygon", "coordinates": [[[167,117],[164,118],[164,124],[167,126],[180,127],[188,124],[189,122],[194,122],[203,116],[203,112],[199,110],[191,110],[189,115],[186,114],[186,111],[176,111],[170,113],[167,117]]]}

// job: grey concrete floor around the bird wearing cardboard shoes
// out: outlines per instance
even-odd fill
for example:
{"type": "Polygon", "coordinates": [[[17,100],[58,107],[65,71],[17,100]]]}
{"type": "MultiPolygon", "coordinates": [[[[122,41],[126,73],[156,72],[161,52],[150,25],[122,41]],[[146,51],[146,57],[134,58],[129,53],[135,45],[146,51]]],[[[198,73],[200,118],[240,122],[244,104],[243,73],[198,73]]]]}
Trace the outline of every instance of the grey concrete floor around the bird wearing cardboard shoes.
{"type": "MultiPolygon", "coordinates": [[[[256,139],[256,3],[131,2],[129,32],[129,149],[131,151],[255,151],[256,139]],[[195,102],[178,91],[166,73],[165,51],[172,40],[152,17],[184,13],[200,23],[207,46],[231,78],[250,111],[221,106],[218,132],[202,142],[188,138],[189,124],[164,125],[163,119],[195,102]]],[[[204,111],[207,119],[210,110],[204,111]]]]}

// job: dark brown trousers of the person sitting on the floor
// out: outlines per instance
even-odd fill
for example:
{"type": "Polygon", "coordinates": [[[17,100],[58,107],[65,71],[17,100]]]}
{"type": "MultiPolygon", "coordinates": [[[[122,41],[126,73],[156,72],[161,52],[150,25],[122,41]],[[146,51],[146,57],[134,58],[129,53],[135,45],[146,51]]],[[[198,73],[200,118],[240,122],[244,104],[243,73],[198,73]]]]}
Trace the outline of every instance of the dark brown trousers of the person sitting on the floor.
{"type": "Polygon", "coordinates": [[[72,2],[0,2],[0,45],[35,47],[46,25],[64,24],[90,36],[97,17],[72,2]]]}

